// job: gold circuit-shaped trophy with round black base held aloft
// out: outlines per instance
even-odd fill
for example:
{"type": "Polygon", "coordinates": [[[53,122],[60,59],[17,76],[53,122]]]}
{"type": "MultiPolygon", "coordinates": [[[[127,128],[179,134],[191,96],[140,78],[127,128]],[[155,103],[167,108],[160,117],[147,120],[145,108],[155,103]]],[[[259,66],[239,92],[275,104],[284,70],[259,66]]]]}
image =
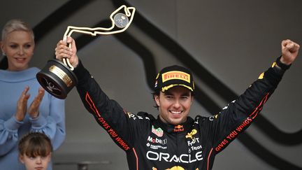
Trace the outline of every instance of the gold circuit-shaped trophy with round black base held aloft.
{"type": "MultiPolygon", "coordinates": [[[[109,28],[96,27],[67,27],[63,40],[67,36],[71,36],[73,32],[82,34],[96,35],[109,35],[117,34],[125,31],[131,24],[134,13],[134,7],[120,6],[117,10],[113,11],[110,15],[112,26],[109,28]],[[120,13],[124,9],[123,13],[120,13]]],[[[36,74],[38,83],[52,96],[59,99],[65,99],[71,89],[77,85],[78,78],[73,73],[73,66],[69,63],[69,59],[64,58],[63,62],[57,59],[50,59],[46,66],[36,74]]]]}

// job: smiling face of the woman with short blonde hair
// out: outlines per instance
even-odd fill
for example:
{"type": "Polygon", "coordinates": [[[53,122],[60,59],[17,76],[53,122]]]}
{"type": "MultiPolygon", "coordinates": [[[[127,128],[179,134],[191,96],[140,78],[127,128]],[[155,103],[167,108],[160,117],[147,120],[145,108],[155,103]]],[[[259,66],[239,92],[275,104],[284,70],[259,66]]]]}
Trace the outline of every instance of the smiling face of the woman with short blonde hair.
{"type": "Polygon", "coordinates": [[[34,54],[34,38],[28,31],[11,31],[1,42],[1,50],[8,57],[8,70],[22,71],[34,54]]]}

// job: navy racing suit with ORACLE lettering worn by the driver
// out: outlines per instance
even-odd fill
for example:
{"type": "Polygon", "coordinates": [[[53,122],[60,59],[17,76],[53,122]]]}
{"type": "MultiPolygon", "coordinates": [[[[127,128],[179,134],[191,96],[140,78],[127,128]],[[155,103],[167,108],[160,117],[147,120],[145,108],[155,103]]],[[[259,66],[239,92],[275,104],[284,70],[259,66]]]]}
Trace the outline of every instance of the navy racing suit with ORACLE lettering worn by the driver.
{"type": "Polygon", "coordinates": [[[82,103],[127,153],[131,170],[212,169],[215,155],[254,122],[284,72],[272,66],[217,115],[188,117],[175,126],[148,113],[125,111],[108,98],[81,62],[74,70],[82,103]]]}

